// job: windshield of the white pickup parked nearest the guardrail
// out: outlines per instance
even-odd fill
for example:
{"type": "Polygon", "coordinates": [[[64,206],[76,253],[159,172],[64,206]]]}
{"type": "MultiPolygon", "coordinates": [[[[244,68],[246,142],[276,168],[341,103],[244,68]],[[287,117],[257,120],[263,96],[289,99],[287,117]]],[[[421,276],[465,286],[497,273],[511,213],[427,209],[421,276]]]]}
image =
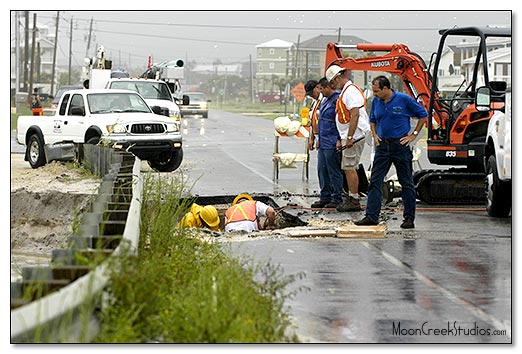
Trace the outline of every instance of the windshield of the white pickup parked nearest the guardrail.
{"type": "Polygon", "coordinates": [[[92,93],[87,95],[89,111],[92,114],[119,112],[150,113],[149,106],[135,93],[92,93]]]}

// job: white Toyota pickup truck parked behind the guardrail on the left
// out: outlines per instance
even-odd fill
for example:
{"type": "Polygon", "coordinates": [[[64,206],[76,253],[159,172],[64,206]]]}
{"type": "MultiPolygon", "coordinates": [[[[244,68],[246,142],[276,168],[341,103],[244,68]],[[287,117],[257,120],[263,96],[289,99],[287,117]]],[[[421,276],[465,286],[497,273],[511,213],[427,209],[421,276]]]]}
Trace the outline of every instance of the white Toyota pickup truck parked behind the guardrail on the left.
{"type": "Polygon", "coordinates": [[[55,115],[18,117],[17,140],[33,168],[74,158],[78,144],[127,149],[160,172],[174,171],[183,160],[180,122],[128,90],[67,91],[55,115]]]}

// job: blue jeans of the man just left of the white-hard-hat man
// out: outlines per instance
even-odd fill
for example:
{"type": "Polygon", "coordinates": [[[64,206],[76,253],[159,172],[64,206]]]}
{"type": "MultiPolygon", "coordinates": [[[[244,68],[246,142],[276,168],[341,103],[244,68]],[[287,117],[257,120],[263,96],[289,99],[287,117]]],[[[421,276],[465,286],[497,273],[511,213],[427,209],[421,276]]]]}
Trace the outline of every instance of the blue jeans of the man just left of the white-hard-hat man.
{"type": "Polygon", "coordinates": [[[319,149],[317,152],[317,174],[320,199],[325,202],[341,204],[343,202],[343,171],[341,156],[335,149],[319,149]]]}

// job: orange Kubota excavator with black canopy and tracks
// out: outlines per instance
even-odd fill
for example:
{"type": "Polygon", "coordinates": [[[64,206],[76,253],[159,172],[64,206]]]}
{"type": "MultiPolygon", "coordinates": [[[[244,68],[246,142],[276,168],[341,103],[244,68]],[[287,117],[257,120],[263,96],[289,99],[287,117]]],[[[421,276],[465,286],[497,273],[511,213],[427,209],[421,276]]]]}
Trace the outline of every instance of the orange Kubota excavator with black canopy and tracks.
{"type": "MultiPolygon", "coordinates": [[[[503,109],[506,88],[511,86],[511,76],[505,75],[506,70],[500,75],[503,67],[492,66],[488,60],[493,61],[495,56],[507,50],[510,57],[511,28],[452,28],[441,30],[439,34],[438,50],[431,56],[432,70],[405,44],[328,43],[325,71],[336,64],[349,71],[372,71],[400,77],[406,93],[429,114],[426,123],[428,160],[431,164],[448,166],[417,171],[414,175],[417,197],[428,204],[484,203],[488,122],[494,110],[503,109]],[[448,38],[466,43],[466,50],[458,52],[457,45],[446,43],[450,42],[448,38]],[[473,48],[469,44],[473,44],[473,48]],[[363,51],[367,56],[345,57],[343,49],[363,51]],[[459,65],[453,60],[448,62],[448,50],[455,53],[459,65]],[[441,73],[452,70],[453,74],[460,70],[461,75],[453,75],[453,85],[448,85],[442,80],[447,75],[443,77],[441,73]],[[445,91],[438,88],[439,76],[440,82],[446,85],[445,91]],[[479,110],[476,106],[477,89],[484,86],[491,90],[491,110],[479,110]]],[[[509,71],[510,68],[509,59],[509,71]]]]}

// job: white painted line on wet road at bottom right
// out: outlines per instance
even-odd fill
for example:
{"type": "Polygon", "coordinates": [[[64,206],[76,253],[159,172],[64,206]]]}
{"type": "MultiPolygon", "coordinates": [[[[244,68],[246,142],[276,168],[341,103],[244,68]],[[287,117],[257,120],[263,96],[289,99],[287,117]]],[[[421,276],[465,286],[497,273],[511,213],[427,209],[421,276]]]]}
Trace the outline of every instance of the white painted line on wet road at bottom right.
{"type": "Polygon", "coordinates": [[[471,312],[474,316],[478,317],[482,321],[488,323],[489,325],[495,327],[498,330],[504,330],[506,331],[507,336],[511,339],[511,326],[508,326],[503,321],[497,319],[496,317],[484,312],[482,309],[480,309],[478,306],[475,306],[471,302],[464,300],[458,295],[455,295],[450,290],[446,289],[442,285],[438,284],[428,276],[416,271],[413,269],[410,265],[407,263],[404,263],[400,259],[395,258],[388,252],[380,249],[379,247],[375,246],[374,244],[368,243],[368,242],[362,242],[363,246],[365,246],[368,249],[373,249],[380,253],[388,262],[393,264],[394,266],[401,268],[402,270],[406,271],[407,273],[410,273],[414,275],[418,280],[421,281],[424,285],[426,285],[429,288],[436,289],[439,292],[441,292],[448,300],[451,302],[460,305],[464,307],[467,311],[471,312]]]}

